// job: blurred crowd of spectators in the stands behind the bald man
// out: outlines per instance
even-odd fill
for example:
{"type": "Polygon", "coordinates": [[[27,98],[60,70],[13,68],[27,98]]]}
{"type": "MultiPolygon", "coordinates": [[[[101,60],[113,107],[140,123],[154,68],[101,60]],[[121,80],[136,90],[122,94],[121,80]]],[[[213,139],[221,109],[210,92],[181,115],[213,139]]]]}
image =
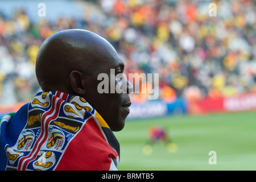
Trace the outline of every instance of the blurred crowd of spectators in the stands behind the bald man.
{"type": "MultiPolygon", "coordinates": [[[[253,0],[98,0],[82,1],[81,6],[81,18],[56,22],[47,17],[32,22],[26,10],[16,10],[12,18],[0,13],[1,104],[34,97],[40,90],[34,71],[40,44],[67,28],[108,39],[125,62],[126,75],[159,73],[160,99],[256,92],[253,0]],[[217,16],[208,14],[211,2],[217,5],[217,16]]],[[[140,94],[131,98],[144,99],[140,94]]]]}

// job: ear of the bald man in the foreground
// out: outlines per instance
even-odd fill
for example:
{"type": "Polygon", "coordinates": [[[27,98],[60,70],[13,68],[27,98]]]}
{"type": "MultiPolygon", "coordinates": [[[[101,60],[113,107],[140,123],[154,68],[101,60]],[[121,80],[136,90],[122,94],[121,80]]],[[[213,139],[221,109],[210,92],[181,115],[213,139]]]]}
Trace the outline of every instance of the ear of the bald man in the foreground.
{"type": "Polygon", "coordinates": [[[73,94],[76,94],[76,96],[84,95],[85,84],[81,72],[75,70],[69,73],[69,84],[73,94]]]}

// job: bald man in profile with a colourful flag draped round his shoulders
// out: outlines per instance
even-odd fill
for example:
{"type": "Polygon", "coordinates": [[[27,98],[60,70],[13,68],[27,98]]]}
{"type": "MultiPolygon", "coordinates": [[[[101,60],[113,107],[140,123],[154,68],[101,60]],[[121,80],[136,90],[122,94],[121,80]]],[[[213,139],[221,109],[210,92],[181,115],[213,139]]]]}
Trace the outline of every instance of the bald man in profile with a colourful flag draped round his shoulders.
{"type": "Polygon", "coordinates": [[[97,89],[100,73],[113,77],[123,69],[111,44],[93,32],[49,36],[36,58],[43,92],[1,119],[0,169],[116,170],[119,143],[112,131],[125,125],[133,88],[126,80],[127,92],[97,89]]]}

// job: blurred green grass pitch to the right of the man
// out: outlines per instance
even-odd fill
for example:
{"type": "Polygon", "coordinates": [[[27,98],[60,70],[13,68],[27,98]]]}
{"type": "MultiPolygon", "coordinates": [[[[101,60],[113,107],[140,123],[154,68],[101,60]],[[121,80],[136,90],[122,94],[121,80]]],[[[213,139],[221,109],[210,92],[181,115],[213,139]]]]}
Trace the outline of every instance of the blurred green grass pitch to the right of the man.
{"type": "Polygon", "coordinates": [[[256,170],[256,112],[129,120],[115,136],[118,170],[256,170]],[[176,148],[143,148],[151,126],[163,126],[176,148]]]}

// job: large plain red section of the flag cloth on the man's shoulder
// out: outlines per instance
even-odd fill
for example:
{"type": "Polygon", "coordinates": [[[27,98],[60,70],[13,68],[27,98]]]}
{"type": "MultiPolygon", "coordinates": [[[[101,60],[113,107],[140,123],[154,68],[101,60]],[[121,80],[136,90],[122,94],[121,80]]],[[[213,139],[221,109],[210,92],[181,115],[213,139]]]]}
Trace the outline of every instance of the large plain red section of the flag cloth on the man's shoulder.
{"type": "Polygon", "coordinates": [[[55,170],[109,170],[110,156],[117,159],[118,154],[106,142],[94,118],[90,118],[69,143],[55,170]]]}

